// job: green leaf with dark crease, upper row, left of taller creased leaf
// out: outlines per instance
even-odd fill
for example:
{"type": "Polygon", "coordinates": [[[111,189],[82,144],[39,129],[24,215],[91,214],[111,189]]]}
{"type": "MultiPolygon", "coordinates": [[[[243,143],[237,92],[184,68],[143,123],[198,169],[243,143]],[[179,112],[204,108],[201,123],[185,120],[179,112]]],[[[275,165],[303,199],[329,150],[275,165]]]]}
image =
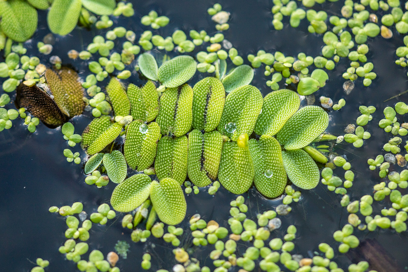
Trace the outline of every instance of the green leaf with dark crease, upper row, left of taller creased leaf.
{"type": "Polygon", "coordinates": [[[162,134],[173,133],[180,137],[191,130],[193,121],[193,89],[184,84],[179,88],[169,88],[160,97],[160,111],[156,122],[162,134]]]}

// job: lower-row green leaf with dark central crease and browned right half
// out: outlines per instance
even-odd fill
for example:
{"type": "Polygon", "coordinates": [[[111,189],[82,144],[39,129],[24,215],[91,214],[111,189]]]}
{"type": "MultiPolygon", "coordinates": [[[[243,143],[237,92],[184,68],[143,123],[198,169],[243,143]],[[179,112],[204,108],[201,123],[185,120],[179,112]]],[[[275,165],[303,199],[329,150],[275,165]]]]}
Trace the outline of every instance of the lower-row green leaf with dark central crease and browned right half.
{"type": "Polygon", "coordinates": [[[187,172],[194,185],[204,187],[217,178],[223,142],[217,130],[188,133],[187,172]]]}

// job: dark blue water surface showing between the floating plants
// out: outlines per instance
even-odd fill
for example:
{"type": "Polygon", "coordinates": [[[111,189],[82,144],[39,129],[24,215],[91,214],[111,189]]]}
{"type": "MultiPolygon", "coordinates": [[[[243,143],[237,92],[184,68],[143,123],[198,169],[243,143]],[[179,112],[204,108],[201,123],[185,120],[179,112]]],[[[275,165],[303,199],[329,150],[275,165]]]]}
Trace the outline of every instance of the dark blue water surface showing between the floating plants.
{"type": "MultiPolygon", "coordinates": [[[[170,18],[170,24],[161,28],[157,33],[166,37],[171,35],[175,29],[184,30],[187,35],[190,29],[200,31],[205,29],[209,35],[213,35],[215,24],[211,22],[206,9],[214,2],[208,1],[132,1],[135,8],[135,15],[131,19],[120,19],[120,24],[126,29],[131,29],[136,33],[136,41],[140,33],[144,30],[151,30],[140,24],[142,15],[146,15],[152,9],[159,15],[166,15],[170,18]]],[[[272,2],[272,1],[271,1],[272,2]]],[[[267,52],[281,51],[285,55],[296,56],[299,52],[313,57],[319,55],[323,46],[321,35],[312,35],[307,32],[307,24],[301,24],[298,29],[293,29],[286,25],[282,31],[275,31],[271,25],[272,3],[268,1],[253,0],[230,0],[220,1],[223,10],[231,12],[230,29],[224,31],[225,38],[232,42],[238,49],[239,55],[244,57],[248,53],[256,53],[259,49],[267,52]]],[[[340,1],[341,2],[341,1],[340,1]]],[[[339,3],[327,3],[323,5],[326,11],[339,13],[339,3]]],[[[45,22],[46,13],[40,12],[39,31],[33,37],[33,41],[27,46],[32,46],[31,54],[37,54],[36,43],[42,40],[48,33],[45,22]]],[[[330,14],[329,14],[330,15],[330,14]]],[[[116,19],[113,27],[118,26],[116,19]]],[[[306,21],[306,19],[304,20],[306,21]]],[[[288,20],[284,19],[288,23],[288,20]]],[[[113,29],[112,27],[112,29],[113,29]]],[[[59,55],[63,63],[74,64],[80,71],[85,71],[81,75],[86,76],[89,71],[84,68],[85,62],[76,60],[75,62],[67,57],[67,51],[76,49],[78,51],[86,48],[91,39],[102,31],[85,29],[75,29],[66,37],[58,37],[51,55],[59,55]]],[[[156,33],[156,31],[153,31],[156,33]]],[[[354,123],[360,115],[359,105],[376,106],[377,111],[373,114],[373,120],[364,128],[368,130],[372,137],[364,141],[364,146],[354,148],[351,144],[339,144],[334,151],[340,155],[346,155],[352,164],[352,170],[356,177],[353,188],[349,190],[350,199],[359,199],[366,194],[372,194],[373,185],[379,183],[377,171],[368,170],[366,163],[368,158],[375,158],[378,154],[385,154],[381,151],[382,145],[388,141],[391,134],[387,134],[378,127],[378,121],[383,118],[382,110],[386,106],[393,106],[397,100],[383,103],[391,97],[407,89],[406,69],[394,64],[395,49],[403,45],[402,35],[394,33],[390,40],[381,37],[370,38],[368,46],[368,61],[374,63],[374,71],[378,77],[370,87],[362,85],[362,80],[357,80],[355,89],[350,95],[345,95],[342,89],[344,79],[341,74],[348,67],[346,59],[342,59],[336,69],[329,73],[329,81],[326,86],[315,93],[316,100],[320,95],[331,97],[334,102],[340,98],[346,99],[346,106],[341,111],[330,111],[331,117],[328,132],[335,135],[343,135],[344,127],[349,123],[354,123]]],[[[119,40],[119,39],[118,39],[119,40]]],[[[119,41],[117,44],[120,44],[119,41]]],[[[121,39],[121,42],[124,40],[121,39]]],[[[121,48],[121,47],[120,47],[121,48]]],[[[204,49],[204,48],[203,48],[204,49]]],[[[204,49],[205,50],[205,49],[204,49]]],[[[195,49],[191,55],[195,55],[200,49],[195,49]]],[[[97,58],[98,54],[95,54],[97,58]]],[[[48,56],[49,57],[49,56],[48,56]]],[[[48,63],[47,56],[42,57],[42,63],[48,63]]],[[[134,65],[134,64],[133,64],[134,65]]],[[[264,67],[264,66],[262,66],[264,67]]],[[[270,77],[263,75],[264,68],[255,70],[255,78],[252,82],[264,95],[271,91],[266,86],[266,80],[270,77]]],[[[193,85],[196,80],[204,77],[201,73],[196,73],[195,79],[190,82],[193,85]]],[[[135,84],[144,84],[136,75],[128,80],[135,84]]],[[[100,86],[105,86],[102,82],[100,86]]],[[[1,83],[1,82],[0,82],[1,83]]],[[[283,84],[283,82],[281,82],[283,84]]],[[[283,87],[283,85],[281,85],[283,87]]],[[[407,101],[405,96],[399,97],[401,101],[407,101]]],[[[13,108],[9,104],[6,108],[13,108]]],[[[401,116],[398,116],[401,117],[401,116]]],[[[84,116],[75,117],[71,122],[75,125],[75,133],[81,133],[83,128],[92,118],[89,113],[84,116]]],[[[400,118],[399,122],[404,122],[400,118]]],[[[402,137],[403,141],[406,137],[402,137]]],[[[63,150],[68,148],[67,141],[62,137],[60,129],[49,129],[43,124],[37,127],[35,133],[29,133],[26,126],[22,125],[20,118],[13,121],[13,128],[3,130],[0,133],[0,254],[1,271],[29,271],[35,265],[35,259],[41,257],[50,261],[47,271],[76,271],[76,264],[64,259],[64,255],[58,252],[58,247],[66,240],[64,232],[67,229],[64,218],[48,212],[50,206],[71,205],[75,201],[84,203],[84,210],[90,215],[96,208],[104,202],[109,201],[111,192],[115,187],[112,182],[106,188],[96,188],[84,183],[85,175],[81,165],[73,162],[68,163],[63,156],[63,150]]],[[[401,148],[404,149],[404,148],[401,148]]],[[[80,152],[84,161],[85,155],[77,145],[71,148],[73,152],[80,152]]],[[[404,152],[403,152],[404,153],[404,152]]],[[[399,166],[391,166],[390,171],[401,171],[399,166]]],[[[343,177],[344,171],[337,170],[336,173],[343,177]]],[[[129,172],[129,175],[132,175],[129,172]]],[[[297,239],[293,254],[303,254],[308,256],[308,251],[318,250],[320,242],[326,242],[335,248],[338,243],[333,240],[333,232],[341,229],[347,222],[348,213],[346,208],[339,205],[340,196],[334,192],[328,192],[326,186],[319,184],[317,188],[309,191],[302,191],[302,200],[292,203],[293,211],[283,217],[282,228],[272,234],[274,237],[282,237],[286,233],[286,227],[295,224],[297,227],[297,239]]],[[[208,195],[208,188],[202,188],[200,194],[190,194],[186,196],[187,216],[190,218],[195,213],[200,213],[206,221],[215,219],[222,226],[226,226],[229,217],[229,202],[235,196],[224,189],[219,190],[215,196],[208,195]]],[[[406,190],[402,191],[403,194],[406,190]]],[[[254,188],[244,194],[248,210],[248,218],[256,219],[258,212],[271,209],[277,206],[280,200],[267,200],[262,197],[254,188]]],[[[373,205],[377,213],[381,208],[390,207],[389,201],[381,201],[373,205]]],[[[106,254],[114,250],[113,247],[118,240],[129,241],[131,248],[126,260],[120,260],[118,267],[121,271],[140,271],[142,253],[149,250],[152,254],[152,268],[165,268],[171,270],[175,264],[173,247],[166,245],[162,240],[151,237],[146,243],[133,243],[130,240],[130,230],[125,230],[120,224],[122,216],[115,218],[117,221],[109,220],[106,226],[93,225],[90,230],[91,238],[88,241],[90,250],[99,249],[106,254]]],[[[182,227],[188,227],[187,222],[182,223],[182,227]]],[[[366,237],[375,238],[386,250],[397,259],[402,268],[408,266],[408,239],[406,232],[397,234],[393,230],[377,230],[369,233],[355,230],[355,235],[360,239],[366,237]]],[[[191,243],[189,232],[186,232],[181,239],[182,244],[191,243]]],[[[206,258],[208,250],[198,248],[194,257],[202,257],[200,261],[206,265],[212,265],[212,261],[206,258]]],[[[84,256],[86,258],[86,255],[84,256]]],[[[342,268],[347,270],[350,261],[339,255],[337,261],[342,264],[342,268]]],[[[235,271],[235,270],[234,270],[235,271]]]]}

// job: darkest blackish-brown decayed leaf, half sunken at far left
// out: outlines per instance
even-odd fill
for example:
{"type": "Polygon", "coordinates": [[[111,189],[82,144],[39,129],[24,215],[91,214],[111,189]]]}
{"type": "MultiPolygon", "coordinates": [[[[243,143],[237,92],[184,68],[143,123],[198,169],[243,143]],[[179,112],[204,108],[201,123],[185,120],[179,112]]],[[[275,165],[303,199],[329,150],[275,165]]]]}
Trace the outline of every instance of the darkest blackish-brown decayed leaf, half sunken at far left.
{"type": "Polygon", "coordinates": [[[26,108],[49,128],[56,128],[68,121],[57,103],[37,85],[32,87],[21,83],[16,91],[16,107],[26,108]]]}

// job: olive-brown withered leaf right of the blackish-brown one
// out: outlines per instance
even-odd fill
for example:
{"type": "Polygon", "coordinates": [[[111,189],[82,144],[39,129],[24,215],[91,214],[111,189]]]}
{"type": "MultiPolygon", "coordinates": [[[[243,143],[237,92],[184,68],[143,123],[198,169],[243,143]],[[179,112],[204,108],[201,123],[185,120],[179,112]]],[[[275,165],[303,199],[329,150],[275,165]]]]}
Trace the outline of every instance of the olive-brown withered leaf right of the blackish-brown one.
{"type": "Polygon", "coordinates": [[[45,78],[54,96],[55,103],[69,118],[84,111],[84,89],[78,81],[78,74],[71,68],[62,67],[58,71],[47,69],[45,78]]]}

